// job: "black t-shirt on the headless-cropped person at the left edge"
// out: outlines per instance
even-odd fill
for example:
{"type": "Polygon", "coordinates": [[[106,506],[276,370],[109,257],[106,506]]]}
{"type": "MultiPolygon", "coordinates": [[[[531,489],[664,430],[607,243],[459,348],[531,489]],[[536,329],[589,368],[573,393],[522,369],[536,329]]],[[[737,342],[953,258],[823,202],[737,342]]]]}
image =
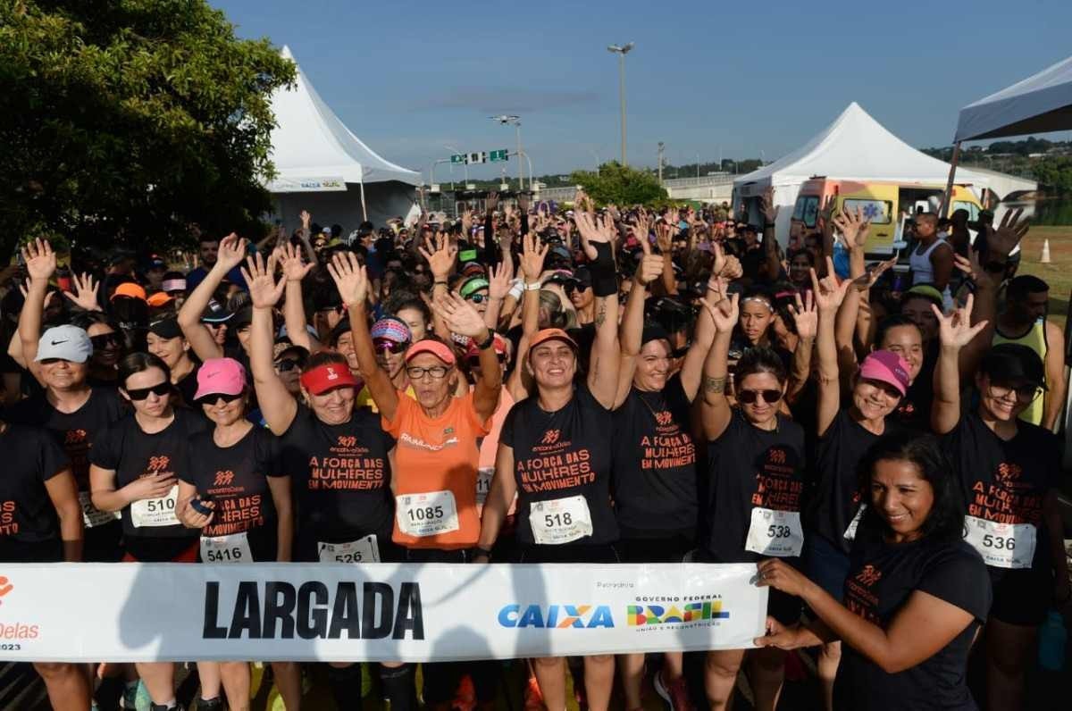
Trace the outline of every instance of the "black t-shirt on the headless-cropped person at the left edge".
{"type": "Polygon", "coordinates": [[[59,538],[45,482],[71,462],[49,432],[17,424],[0,434],[0,560],[21,560],[20,546],[59,538]]]}

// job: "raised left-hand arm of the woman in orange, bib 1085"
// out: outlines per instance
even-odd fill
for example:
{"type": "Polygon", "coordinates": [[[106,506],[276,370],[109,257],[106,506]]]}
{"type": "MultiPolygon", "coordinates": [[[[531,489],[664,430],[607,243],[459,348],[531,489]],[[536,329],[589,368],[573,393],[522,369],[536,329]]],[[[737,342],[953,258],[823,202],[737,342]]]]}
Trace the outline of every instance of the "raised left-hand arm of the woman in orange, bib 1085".
{"type": "MultiPolygon", "coordinates": [[[[399,406],[399,394],[379,364],[369,334],[369,314],[366,300],[369,295],[369,276],[353,252],[338,252],[328,263],[328,272],[336,282],[339,296],[349,314],[349,332],[354,339],[354,354],[357,356],[361,375],[369,388],[379,414],[387,420],[394,419],[399,406]]],[[[496,364],[497,367],[497,364],[496,364]]]]}

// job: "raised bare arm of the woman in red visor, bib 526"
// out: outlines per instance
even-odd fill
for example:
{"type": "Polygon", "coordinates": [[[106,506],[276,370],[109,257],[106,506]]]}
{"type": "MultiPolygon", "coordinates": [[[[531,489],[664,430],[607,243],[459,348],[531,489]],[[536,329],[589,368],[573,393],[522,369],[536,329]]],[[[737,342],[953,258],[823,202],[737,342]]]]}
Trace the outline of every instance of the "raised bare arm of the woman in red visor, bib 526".
{"type": "MultiPolygon", "coordinates": [[[[222,246],[221,246],[222,249],[222,246]]],[[[291,428],[298,414],[298,403],[294,396],[283,385],[276,374],[272,361],[272,309],[279,302],[286,278],[276,282],[274,268],[277,254],[268,257],[267,265],[260,254],[245,261],[242,278],[250,290],[250,300],[253,305],[253,321],[250,323],[250,370],[253,374],[253,388],[257,392],[257,403],[264,415],[268,429],[277,436],[291,428]]]]}

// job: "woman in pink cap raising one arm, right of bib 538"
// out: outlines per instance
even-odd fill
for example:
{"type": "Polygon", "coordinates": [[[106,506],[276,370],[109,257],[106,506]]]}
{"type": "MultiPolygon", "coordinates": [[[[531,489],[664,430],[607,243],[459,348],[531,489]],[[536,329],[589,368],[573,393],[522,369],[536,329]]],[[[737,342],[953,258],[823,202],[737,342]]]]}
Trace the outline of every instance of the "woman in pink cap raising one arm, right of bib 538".
{"type": "MultiPolygon", "coordinates": [[[[833,275],[831,263],[821,280],[812,271],[814,291],[807,295],[807,308],[796,315],[796,324],[798,328],[802,323],[809,324],[809,329],[815,330],[814,298],[818,307],[819,352],[817,480],[805,516],[804,569],[808,578],[840,601],[852,540],[866,501],[866,492],[860,489],[858,466],[880,436],[902,429],[895,413],[908,391],[911,368],[896,353],[873,351],[852,375],[851,399],[843,405],[835,323],[852,282],[838,283],[833,275]]],[[[828,709],[833,705],[840,645],[840,641],[827,642],[819,653],[819,681],[828,709]]]]}

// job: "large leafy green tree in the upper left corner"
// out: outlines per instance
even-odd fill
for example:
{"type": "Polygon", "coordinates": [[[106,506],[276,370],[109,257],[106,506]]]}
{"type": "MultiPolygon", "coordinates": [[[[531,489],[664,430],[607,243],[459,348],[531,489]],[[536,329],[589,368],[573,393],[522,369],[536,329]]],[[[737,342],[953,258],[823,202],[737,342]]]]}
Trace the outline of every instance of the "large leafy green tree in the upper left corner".
{"type": "Polygon", "coordinates": [[[205,0],[0,0],[0,260],[252,233],[293,63],[205,0]]]}

